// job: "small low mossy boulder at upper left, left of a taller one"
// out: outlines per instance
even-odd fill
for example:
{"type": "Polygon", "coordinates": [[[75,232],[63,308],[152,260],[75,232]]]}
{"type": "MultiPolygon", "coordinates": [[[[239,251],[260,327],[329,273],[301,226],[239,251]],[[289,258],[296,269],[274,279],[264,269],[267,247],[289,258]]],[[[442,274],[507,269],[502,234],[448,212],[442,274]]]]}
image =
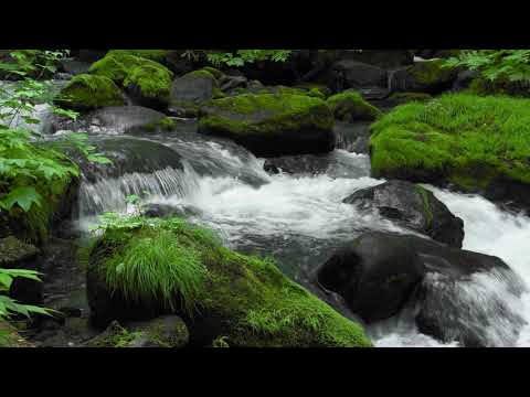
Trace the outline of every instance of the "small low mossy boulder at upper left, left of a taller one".
{"type": "Polygon", "coordinates": [[[60,98],[59,105],[78,111],[125,105],[121,90],[112,79],[88,74],[74,76],[61,90],[60,98]]]}

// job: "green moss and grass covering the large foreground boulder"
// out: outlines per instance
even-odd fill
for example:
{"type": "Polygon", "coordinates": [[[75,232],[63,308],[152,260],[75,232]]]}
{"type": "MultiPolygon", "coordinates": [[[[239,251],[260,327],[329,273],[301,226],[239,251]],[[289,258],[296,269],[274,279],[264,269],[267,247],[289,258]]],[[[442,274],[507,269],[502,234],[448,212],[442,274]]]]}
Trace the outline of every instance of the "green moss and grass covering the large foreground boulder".
{"type": "MultiPolygon", "coordinates": [[[[157,276],[151,272],[161,272],[157,267],[166,262],[166,250],[179,255],[169,256],[172,264],[163,266],[180,267],[178,271],[186,272],[189,282],[198,286],[187,298],[189,307],[200,315],[220,319],[212,342],[224,336],[230,346],[371,346],[361,326],[287,279],[272,260],[236,254],[222,247],[210,230],[178,218],[158,219],[152,227],[135,230],[107,230],[95,246],[92,266],[107,275],[119,264],[142,267],[146,278],[152,279],[157,276]],[[163,239],[160,246],[165,248],[155,253],[152,245],[159,239],[163,239]],[[136,249],[136,256],[128,254],[138,246],[142,248],[136,249]],[[146,257],[146,251],[153,255],[146,257]]],[[[135,279],[117,273],[113,277],[121,277],[121,281],[107,278],[108,285],[127,288],[130,299],[140,291],[150,298],[155,298],[153,291],[160,291],[161,299],[166,296],[161,282],[168,291],[179,290],[182,285],[181,277],[166,275],[148,290],[135,279]]],[[[180,311],[187,316],[183,309],[180,311]]],[[[193,320],[191,324],[193,329],[193,320]]]]}

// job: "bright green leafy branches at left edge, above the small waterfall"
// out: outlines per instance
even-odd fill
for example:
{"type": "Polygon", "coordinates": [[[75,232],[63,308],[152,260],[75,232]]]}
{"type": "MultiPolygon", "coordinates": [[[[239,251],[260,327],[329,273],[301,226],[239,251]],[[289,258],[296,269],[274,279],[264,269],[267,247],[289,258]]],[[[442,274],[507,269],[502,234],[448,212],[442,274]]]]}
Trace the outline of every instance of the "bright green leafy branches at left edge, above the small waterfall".
{"type": "MultiPolygon", "coordinates": [[[[47,104],[57,115],[75,119],[78,114],[53,105],[56,97],[51,82],[39,78],[56,72],[57,61],[67,51],[20,50],[10,53],[14,62],[1,62],[0,69],[15,75],[19,81],[10,87],[0,87],[0,211],[13,207],[29,212],[42,205],[38,185],[52,186],[72,176],[78,169],[56,151],[36,148],[32,142],[41,138],[31,126],[38,104],[47,104]],[[20,126],[21,124],[25,126],[20,126]]],[[[92,162],[108,163],[95,147],[87,144],[86,135],[71,133],[66,139],[92,162]]]]}

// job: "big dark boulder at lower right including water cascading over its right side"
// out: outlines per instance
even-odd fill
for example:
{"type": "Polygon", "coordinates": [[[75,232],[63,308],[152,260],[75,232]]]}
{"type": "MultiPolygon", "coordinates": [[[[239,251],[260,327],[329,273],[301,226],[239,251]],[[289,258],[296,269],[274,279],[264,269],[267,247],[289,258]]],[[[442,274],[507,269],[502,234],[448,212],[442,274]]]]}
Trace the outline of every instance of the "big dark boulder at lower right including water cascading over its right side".
{"type": "Polygon", "coordinates": [[[365,233],[333,254],[317,279],[367,322],[409,309],[421,332],[443,342],[512,345],[524,324],[511,304],[523,283],[501,259],[417,236],[365,233]]]}

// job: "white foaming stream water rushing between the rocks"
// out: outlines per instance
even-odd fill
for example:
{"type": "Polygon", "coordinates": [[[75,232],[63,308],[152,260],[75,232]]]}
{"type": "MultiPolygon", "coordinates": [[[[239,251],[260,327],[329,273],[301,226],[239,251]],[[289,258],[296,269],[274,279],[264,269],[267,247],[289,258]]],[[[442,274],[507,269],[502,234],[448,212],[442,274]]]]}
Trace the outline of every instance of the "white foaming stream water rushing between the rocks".
{"type": "MultiPolygon", "coordinates": [[[[183,158],[184,169],[166,168],[85,182],[81,192],[82,225],[103,211],[126,211],[126,195],[148,191],[148,203],[181,208],[190,221],[219,230],[234,249],[272,255],[287,275],[298,280],[362,232],[412,233],[377,213],[360,213],[342,203],[353,191],[383,182],[369,176],[368,155],[336,150],[325,158],[307,157],[309,162],[325,159],[322,173],[268,175],[263,171],[264,160],[246,151],[234,152],[201,140],[156,139],[183,158]],[[198,161],[210,162],[219,172],[201,174],[198,161]],[[248,179],[262,182],[253,184],[248,179]]],[[[500,257],[530,286],[530,218],[504,212],[479,196],[430,189],[464,219],[464,249],[500,257]]],[[[500,297],[530,324],[530,293],[517,298],[495,275],[476,275],[459,286],[458,293],[485,305],[494,294],[500,297]]],[[[371,325],[367,331],[378,346],[458,345],[421,334],[413,322],[403,318],[371,325]]],[[[501,345],[496,341],[502,339],[504,332],[504,324],[491,329],[492,345],[501,345]]],[[[530,345],[530,325],[523,326],[516,345],[530,345]]]]}

